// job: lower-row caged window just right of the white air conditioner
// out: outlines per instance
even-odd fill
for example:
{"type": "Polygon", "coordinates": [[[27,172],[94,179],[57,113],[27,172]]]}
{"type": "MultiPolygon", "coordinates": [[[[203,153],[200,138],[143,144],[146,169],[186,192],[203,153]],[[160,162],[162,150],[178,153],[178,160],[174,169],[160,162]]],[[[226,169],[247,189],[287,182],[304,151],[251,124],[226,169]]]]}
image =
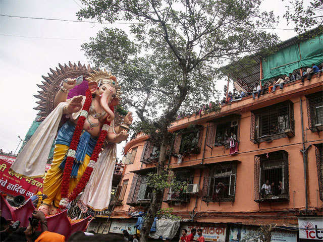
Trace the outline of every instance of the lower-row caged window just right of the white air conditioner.
{"type": "Polygon", "coordinates": [[[204,172],[202,200],[205,202],[233,202],[235,200],[236,179],[236,162],[212,165],[209,171],[204,172]]]}

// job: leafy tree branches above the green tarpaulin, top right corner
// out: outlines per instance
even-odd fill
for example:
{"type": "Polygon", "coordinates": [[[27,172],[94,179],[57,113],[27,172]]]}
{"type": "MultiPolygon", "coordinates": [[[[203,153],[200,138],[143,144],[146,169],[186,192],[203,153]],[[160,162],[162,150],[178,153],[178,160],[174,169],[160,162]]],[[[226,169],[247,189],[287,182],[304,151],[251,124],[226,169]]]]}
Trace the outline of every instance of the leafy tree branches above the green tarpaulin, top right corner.
{"type": "Polygon", "coordinates": [[[295,32],[301,34],[323,24],[323,0],[313,0],[305,6],[304,0],[288,1],[284,18],[287,24],[295,24],[295,32]]]}

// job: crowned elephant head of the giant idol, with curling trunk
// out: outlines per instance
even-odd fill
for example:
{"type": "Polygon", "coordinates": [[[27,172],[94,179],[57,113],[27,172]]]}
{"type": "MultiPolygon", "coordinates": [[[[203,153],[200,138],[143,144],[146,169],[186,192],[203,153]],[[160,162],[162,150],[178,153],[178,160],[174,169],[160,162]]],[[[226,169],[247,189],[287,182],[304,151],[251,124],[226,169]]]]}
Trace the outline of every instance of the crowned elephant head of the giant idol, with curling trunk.
{"type": "Polygon", "coordinates": [[[91,73],[87,80],[91,93],[99,98],[101,107],[107,113],[106,120],[112,121],[115,114],[111,107],[118,104],[121,95],[117,78],[105,70],[98,70],[91,73]]]}

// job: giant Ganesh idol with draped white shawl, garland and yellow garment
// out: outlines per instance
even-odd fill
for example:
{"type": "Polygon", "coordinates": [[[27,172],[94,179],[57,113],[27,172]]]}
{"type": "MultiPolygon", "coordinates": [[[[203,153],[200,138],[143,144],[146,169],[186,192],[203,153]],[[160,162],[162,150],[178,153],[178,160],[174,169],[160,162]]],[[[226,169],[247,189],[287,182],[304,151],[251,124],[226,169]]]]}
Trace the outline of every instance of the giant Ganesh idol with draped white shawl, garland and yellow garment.
{"type": "Polygon", "coordinates": [[[98,70],[90,73],[87,81],[85,96],[68,99],[77,80],[65,79],[55,96],[55,109],[11,167],[24,177],[43,176],[56,137],[53,161],[44,177],[43,194],[47,198],[39,207],[45,214],[56,214],[58,208],[67,207],[82,191],[80,200],[88,207],[94,210],[109,207],[116,144],[128,138],[133,118],[129,112],[121,124],[114,124],[114,106],[121,94],[116,77],[98,70]],[[59,129],[62,117],[67,121],[59,129]]]}

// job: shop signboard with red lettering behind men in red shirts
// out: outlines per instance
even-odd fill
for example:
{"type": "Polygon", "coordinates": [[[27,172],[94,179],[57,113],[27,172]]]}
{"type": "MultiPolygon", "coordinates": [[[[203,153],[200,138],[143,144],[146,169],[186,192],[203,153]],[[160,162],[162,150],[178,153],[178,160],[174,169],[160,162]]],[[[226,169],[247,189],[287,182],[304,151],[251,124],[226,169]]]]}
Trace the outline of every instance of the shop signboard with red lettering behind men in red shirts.
{"type": "MultiPolygon", "coordinates": [[[[181,232],[180,236],[182,236],[182,229],[186,228],[187,234],[191,233],[191,229],[195,228],[196,230],[198,228],[202,229],[202,235],[205,238],[205,241],[226,241],[226,226],[211,226],[211,225],[198,225],[198,224],[192,224],[192,225],[182,225],[181,226],[181,232]]],[[[198,239],[197,233],[195,234],[194,240],[198,239]]]]}

